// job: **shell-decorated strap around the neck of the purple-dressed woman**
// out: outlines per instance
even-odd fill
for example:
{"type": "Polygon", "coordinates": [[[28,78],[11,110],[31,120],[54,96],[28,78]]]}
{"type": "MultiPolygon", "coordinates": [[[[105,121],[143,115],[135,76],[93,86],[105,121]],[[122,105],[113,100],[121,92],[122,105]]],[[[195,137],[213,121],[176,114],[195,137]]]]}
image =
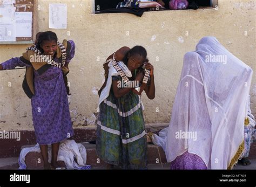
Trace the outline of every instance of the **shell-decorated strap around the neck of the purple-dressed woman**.
{"type": "Polygon", "coordinates": [[[49,57],[43,55],[41,53],[40,50],[37,49],[36,45],[33,45],[32,47],[28,47],[26,50],[31,50],[33,52],[35,52],[38,56],[41,57],[41,59],[43,59],[47,64],[50,64],[51,66],[53,67],[62,67],[65,65],[65,61],[66,61],[66,49],[65,49],[65,46],[59,42],[57,42],[59,48],[60,48],[60,51],[62,53],[62,62],[61,63],[57,63],[56,61],[50,59],[49,57]]]}

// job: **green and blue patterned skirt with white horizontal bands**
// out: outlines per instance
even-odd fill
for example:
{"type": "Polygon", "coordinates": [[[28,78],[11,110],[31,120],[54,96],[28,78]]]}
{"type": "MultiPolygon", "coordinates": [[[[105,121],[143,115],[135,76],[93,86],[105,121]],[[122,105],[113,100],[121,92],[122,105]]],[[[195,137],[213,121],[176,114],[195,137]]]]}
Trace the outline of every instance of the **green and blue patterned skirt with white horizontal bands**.
{"type": "Polygon", "coordinates": [[[101,160],[123,169],[147,168],[147,141],[139,96],[110,95],[99,106],[96,151],[101,160]]]}

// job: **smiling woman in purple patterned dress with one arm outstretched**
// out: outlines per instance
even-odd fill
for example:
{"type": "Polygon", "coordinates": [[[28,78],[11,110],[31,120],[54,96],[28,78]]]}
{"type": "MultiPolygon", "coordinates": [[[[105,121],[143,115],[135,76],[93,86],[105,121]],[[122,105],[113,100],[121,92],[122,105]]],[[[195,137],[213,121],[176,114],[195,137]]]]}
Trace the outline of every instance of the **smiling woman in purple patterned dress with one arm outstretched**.
{"type": "Polygon", "coordinates": [[[36,140],[44,160],[44,169],[57,168],[59,142],[73,136],[69,113],[66,73],[75,54],[75,43],[63,40],[58,43],[56,33],[42,32],[37,43],[23,53],[0,65],[0,70],[26,67],[23,89],[31,98],[33,126],[36,140]],[[52,159],[48,163],[48,144],[52,159]]]}

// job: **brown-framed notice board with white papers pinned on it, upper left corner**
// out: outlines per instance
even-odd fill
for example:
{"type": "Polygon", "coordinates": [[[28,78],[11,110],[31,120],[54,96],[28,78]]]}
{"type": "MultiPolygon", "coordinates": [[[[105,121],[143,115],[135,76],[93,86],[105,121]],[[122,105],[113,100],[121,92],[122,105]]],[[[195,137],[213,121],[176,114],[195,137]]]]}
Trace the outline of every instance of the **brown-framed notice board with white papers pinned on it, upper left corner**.
{"type": "Polygon", "coordinates": [[[36,20],[36,0],[0,0],[0,44],[34,43],[36,20]]]}

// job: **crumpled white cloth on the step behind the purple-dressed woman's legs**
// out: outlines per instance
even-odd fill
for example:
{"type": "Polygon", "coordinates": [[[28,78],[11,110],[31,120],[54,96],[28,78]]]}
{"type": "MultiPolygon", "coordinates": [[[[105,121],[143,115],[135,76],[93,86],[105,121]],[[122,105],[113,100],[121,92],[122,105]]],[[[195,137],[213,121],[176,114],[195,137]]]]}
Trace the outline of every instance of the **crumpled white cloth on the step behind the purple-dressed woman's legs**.
{"type": "MultiPolygon", "coordinates": [[[[22,149],[19,154],[19,169],[26,169],[25,157],[29,152],[40,153],[40,147],[36,146],[22,149]]],[[[49,162],[51,162],[51,150],[48,150],[49,162]]],[[[74,140],[64,140],[60,142],[57,161],[64,161],[66,169],[91,169],[86,165],[86,149],[83,144],[76,143],[74,140]],[[75,160],[76,158],[76,160],[75,160]]]]}

